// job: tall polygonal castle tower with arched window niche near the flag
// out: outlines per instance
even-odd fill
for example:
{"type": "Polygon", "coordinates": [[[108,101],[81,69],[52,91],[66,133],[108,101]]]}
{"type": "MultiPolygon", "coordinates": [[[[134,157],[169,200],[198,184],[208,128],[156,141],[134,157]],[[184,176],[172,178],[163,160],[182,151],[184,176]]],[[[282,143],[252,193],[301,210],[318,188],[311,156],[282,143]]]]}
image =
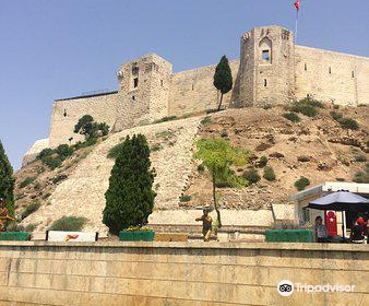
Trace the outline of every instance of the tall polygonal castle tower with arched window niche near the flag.
{"type": "Polygon", "coordinates": [[[293,33],[281,26],[255,27],[241,37],[239,104],[282,104],[295,97],[293,33]]]}

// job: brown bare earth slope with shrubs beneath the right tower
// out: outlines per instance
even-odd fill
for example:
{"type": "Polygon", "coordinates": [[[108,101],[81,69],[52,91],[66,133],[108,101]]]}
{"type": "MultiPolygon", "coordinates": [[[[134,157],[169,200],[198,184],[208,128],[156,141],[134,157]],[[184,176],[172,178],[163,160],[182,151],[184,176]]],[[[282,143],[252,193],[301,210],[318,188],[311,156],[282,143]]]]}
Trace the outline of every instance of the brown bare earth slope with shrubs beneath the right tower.
{"type": "MultiPolygon", "coordinates": [[[[297,192],[294,184],[300,176],[308,177],[311,186],[334,181],[336,178],[352,180],[355,173],[365,165],[356,162],[354,155],[366,154],[365,153],[368,150],[366,142],[369,140],[368,109],[359,107],[336,110],[355,118],[360,123],[359,131],[342,129],[331,118],[330,108],[320,109],[320,115],[316,118],[300,115],[302,120],[298,123],[285,119],[282,107],[230,109],[213,115],[212,123],[199,131],[201,137],[223,134],[233,144],[251,150],[255,157],[267,156],[269,165],[276,173],[276,181],[273,183],[262,178],[258,185],[242,190],[218,189],[223,208],[258,210],[267,209],[271,203],[288,202],[288,197],[297,192]],[[257,148],[262,143],[269,149],[258,151],[257,148]],[[310,161],[299,162],[299,156],[308,156],[310,161]]],[[[251,162],[251,165],[255,165],[257,161],[251,162]]],[[[186,191],[192,199],[180,203],[182,208],[211,202],[210,178],[200,175],[197,165],[198,163],[192,165],[192,176],[186,191]]],[[[241,175],[245,168],[235,170],[241,175]]],[[[262,176],[262,169],[259,173],[262,176]]]]}

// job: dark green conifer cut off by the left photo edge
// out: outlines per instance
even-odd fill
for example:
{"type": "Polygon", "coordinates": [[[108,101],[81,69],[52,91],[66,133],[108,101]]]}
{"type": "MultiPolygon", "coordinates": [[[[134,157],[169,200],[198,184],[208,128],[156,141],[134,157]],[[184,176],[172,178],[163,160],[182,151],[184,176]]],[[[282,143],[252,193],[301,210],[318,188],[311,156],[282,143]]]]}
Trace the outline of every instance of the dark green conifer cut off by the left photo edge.
{"type": "Polygon", "coordinates": [[[13,167],[0,141],[0,198],[4,199],[11,216],[14,216],[14,183],[13,167]]]}

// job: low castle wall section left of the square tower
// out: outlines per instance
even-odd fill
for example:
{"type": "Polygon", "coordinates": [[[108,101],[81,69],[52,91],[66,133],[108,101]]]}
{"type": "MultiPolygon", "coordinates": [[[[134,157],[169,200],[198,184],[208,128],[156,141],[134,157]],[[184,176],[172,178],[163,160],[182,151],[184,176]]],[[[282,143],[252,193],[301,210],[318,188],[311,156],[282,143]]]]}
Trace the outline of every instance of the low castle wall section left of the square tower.
{"type": "Polygon", "coordinates": [[[105,121],[112,128],[118,117],[118,102],[117,93],[56,101],[52,105],[49,145],[53,148],[69,143],[70,138],[73,138],[72,143],[83,140],[73,130],[84,115],[93,116],[96,121],[105,121]]]}

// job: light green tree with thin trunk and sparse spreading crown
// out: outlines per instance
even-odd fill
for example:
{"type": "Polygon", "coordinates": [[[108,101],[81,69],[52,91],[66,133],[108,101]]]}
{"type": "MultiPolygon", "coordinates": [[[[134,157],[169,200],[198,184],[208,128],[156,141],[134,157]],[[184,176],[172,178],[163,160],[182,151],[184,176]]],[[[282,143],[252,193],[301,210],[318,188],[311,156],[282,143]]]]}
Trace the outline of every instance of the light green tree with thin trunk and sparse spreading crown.
{"type": "Polygon", "coordinates": [[[200,139],[197,141],[197,152],[193,157],[201,160],[212,176],[213,202],[219,227],[222,227],[222,220],[215,192],[216,183],[218,179],[227,179],[228,183],[236,187],[247,185],[248,181],[236,176],[229,167],[231,165],[246,165],[249,155],[249,152],[240,148],[234,148],[229,141],[224,139],[200,139]]]}

